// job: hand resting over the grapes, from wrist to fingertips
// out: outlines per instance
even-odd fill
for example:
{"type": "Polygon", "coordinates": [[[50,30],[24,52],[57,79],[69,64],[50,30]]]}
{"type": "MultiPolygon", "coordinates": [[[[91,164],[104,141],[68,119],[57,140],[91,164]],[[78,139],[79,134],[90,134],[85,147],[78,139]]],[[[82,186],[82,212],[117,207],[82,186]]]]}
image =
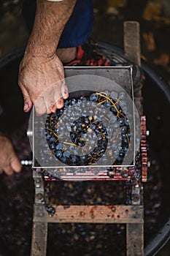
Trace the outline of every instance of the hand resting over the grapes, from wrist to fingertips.
{"type": "Polygon", "coordinates": [[[24,110],[36,113],[55,112],[63,107],[63,99],[69,97],[64,81],[63,65],[56,55],[50,58],[25,55],[20,63],[19,84],[25,102],[24,110]]]}

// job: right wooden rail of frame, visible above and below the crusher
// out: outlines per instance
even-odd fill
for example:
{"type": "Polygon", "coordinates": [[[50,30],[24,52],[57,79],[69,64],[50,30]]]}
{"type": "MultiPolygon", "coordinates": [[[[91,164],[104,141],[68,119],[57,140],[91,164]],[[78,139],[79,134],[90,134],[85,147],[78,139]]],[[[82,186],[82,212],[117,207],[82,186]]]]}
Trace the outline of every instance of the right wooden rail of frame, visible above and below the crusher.
{"type": "MultiPolygon", "coordinates": [[[[134,64],[141,67],[141,46],[140,46],[140,26],[136,21],[125,21],[123,24],[124,55],[134,64]]],[[[140,84],[134,88],[134,102],[139,114],[143,114],[142,90],[140,84]]],[[[142,205],[142,211],[144,211],[142,205]]],[[[126,249],[127,256],[144,255],[144,223],[127,223],[126,225],[126,249]],[[135,237],[136,236],[136,237],[135,237]],[[140,244],[141,251],[136,249],[140,244]]]]}

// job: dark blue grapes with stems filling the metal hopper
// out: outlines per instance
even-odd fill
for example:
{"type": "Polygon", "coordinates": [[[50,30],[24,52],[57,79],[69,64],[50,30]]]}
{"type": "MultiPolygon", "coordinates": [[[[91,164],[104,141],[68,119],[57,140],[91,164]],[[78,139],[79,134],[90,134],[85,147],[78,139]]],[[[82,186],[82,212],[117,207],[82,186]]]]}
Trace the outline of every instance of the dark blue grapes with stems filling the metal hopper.
{"type": "Polygon", "coordinates": [[[128,118],[121,108],[123,101],[120,101],[120,99],[124,99],[124,97],[125,95],[122,93],[117,99],[118,95],[115,91],[112,91],[109,96],[108,92],[105,91],[92,92],[84,97],[66,99],[63,108],[56,110],[55,113],[50,113],[46,119],[45,138],[53,155],[66,165],[86,166],[95,164],[102,157],[106,158],[107,161],[107,157],[112,154],[111,150],[116,150],[117,156],[112,165],[121,165],[128,151],[131,137],[128,118]],[[79,107],[80,105],[84,106],[82,110],[79,107]],[[80,112],[78,115],[72,111],[74,106],[75,110],[80,112]],[[91,106],[94,107],[94,111],[88,110],[91,106]],[[109,127],[104,125],[104,118],[101,120],[98,117],[99,107],[102,113],[104,111],[107,113],[104,118],[109,120],[107,122],[108,126],[112,126],[114,123],[115,127],[120,129],[121,140],[118,144],[115,141],[117,145],[109,143],[111,146],[108,146],[108,140],[112,140],[113,144],[114,140],[112,135],[108,136],[107,130],[109,130],[109,127]],[[67,124],[68,118],[72,122],[70,126],[67,124]],[[64,136],[65,132],[60,127],[65,127],[69,136],[64,136]],[[95,140],[96,145],[92,147],[91,143],[93,144],[94,138],[97,141],[95,140]],[[80,151],[80,148],[82,151],[80,151]]]}

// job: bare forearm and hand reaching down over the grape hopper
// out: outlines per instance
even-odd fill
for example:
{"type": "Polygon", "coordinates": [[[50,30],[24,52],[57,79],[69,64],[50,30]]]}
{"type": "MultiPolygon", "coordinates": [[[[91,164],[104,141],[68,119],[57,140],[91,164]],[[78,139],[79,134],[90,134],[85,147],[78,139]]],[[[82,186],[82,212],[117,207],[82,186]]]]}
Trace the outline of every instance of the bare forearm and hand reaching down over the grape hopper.
{"type": "Polygon", "coordinates": [[[76,0],[36,1],[34,28],[19,69],[25,112],[31,110],[32,104],[40,115],[55,112],[69,97],[56,48],[75,3],[76,0]]]}

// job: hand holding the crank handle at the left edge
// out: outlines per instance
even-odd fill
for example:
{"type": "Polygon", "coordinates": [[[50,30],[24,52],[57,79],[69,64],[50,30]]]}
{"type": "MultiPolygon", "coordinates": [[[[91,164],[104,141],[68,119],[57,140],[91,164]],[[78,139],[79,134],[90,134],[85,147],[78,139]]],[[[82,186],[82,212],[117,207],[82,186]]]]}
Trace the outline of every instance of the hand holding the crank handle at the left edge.
{"type": "Polygon", "coordinates": [[[0,173],[4,171],[7,175],[12,175],[20,172],[21,167],[11,141],[0,133],[0,173]]]}

